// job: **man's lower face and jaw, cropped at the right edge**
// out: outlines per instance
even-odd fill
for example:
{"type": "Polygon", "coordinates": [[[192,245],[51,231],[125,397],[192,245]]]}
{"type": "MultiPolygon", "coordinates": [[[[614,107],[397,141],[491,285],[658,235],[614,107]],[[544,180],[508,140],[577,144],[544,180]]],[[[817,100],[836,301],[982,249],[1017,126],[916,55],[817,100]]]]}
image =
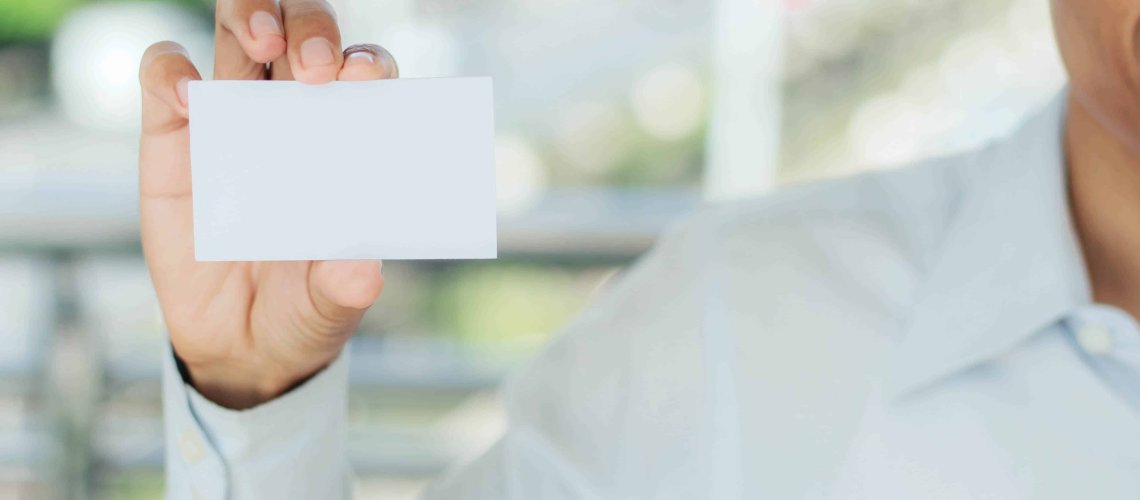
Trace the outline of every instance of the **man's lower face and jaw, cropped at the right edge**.
{"type": "Polygon", "coordinates": [[[1073,97],[1140,154],[1140,1],[1052,0],[1073,97]]]}

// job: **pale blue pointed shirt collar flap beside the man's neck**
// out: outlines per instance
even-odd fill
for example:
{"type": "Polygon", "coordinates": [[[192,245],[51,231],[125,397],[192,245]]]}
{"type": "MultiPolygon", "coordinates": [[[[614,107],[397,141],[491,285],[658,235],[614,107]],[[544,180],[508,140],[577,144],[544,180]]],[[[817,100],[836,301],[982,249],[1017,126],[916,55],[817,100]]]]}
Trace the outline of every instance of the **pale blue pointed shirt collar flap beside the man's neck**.
{"type": "Polygon", "coordinates": [[[898,397],[1001,355],[1090,300],[1069,219],[1066,93],[972,155],[942,254],[920,285],[887,380],[898,397]]]}

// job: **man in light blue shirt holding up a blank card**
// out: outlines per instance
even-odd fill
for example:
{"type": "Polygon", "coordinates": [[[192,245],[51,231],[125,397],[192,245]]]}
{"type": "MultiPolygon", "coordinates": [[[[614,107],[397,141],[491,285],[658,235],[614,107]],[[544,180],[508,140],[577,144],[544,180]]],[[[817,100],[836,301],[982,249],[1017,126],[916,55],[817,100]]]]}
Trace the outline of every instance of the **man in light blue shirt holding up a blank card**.
{"type": "MultiPolygon", "coordinates": [[[[1021,131],[691,216],[425,495],[1140,498],[1140,2],[1052,7],[1072,83],[1021,131]]],[[[334,50],[318,0],[221,0],[218,23],[220,79],[396,75],[380,48],[334,50]]],[[[341,350],[378,267],[194,262],[196,77],[176,46],[144,58],[169,495],[348,497],[341,350]]]]}

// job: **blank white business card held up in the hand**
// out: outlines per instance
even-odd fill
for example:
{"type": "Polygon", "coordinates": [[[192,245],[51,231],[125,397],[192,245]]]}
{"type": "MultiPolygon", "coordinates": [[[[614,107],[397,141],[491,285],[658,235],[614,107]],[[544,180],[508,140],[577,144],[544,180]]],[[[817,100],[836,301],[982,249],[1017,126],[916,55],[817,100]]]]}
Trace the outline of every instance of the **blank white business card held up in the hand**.
{"type": "Polygon", "coordinates": [[[487,77],[189,87],[198,261],[494,259],[487,77]]]}

